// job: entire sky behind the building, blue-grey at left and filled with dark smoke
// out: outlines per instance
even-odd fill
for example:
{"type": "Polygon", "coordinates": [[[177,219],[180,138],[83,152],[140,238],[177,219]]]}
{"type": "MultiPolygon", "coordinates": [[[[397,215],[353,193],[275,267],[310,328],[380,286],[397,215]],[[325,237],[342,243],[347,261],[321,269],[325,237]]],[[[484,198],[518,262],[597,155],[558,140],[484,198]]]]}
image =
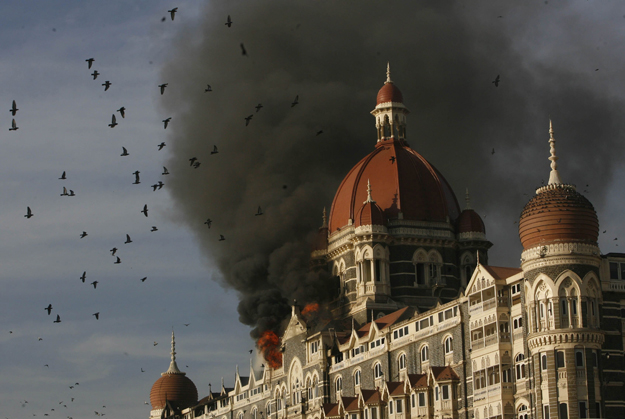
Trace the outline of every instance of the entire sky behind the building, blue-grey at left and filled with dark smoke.
{"type": "Polygon", "coordinates": [[[373,149],[387,61],[411,111],[409,143],[461,206],[469,188],[491,264],[518,266],[514,222],[548,179],[549,118],[561,178],[607,231],[603,253],[625,240],[622,2],[28,1],[0,5],[0,34],[9,418],[147,417],[172,327],[200,397],[222,376],[232,384],[235,364],[245,373],[253,341],[241,322],[277,328],[289,300],[324,298],[325,279],[306,271],[311,238],[373,149]],[[76,196],[59,196],[63,186],[76,196]]]}

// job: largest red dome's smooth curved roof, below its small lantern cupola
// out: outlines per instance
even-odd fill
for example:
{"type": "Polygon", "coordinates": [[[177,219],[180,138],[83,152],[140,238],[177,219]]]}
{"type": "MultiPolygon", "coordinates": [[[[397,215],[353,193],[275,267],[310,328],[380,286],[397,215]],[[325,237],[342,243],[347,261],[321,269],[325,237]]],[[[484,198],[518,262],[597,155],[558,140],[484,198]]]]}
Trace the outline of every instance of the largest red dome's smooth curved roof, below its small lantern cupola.
{"type": "Polygon", "coordinates": [[[339,186],[330,211],[330,234],[354,223],[371,195],[386,219],[455,221],[460,213],[453,190],[434,166],[400,140],[380,141],[339,186]]]}

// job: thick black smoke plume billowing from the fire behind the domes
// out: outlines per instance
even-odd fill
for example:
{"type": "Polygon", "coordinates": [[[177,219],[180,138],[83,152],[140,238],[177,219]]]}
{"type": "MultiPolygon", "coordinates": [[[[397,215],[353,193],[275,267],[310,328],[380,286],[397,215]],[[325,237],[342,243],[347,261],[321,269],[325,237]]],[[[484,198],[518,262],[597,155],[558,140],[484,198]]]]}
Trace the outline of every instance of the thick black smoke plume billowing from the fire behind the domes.
{"type": "Polygon", "coordinates": [[[548,179],[549,117],[562,179],[590,184],[586,195],[602,205],[623,155],[625,109],[614,69],[622,66],[605,62],[596,43],[610,36],[604,16],[622,13],[496,3],[211,1],[180,29],[161,75],[173,117],[168,186],[177,219],[240,294],[254,336],[279,329],[293,299],[332,293],[326,274],[308,270],[311,243],[340,181],[373,149],[369,112],[387,61],[411,110],[409,143],[461,206],[469,187],[495,242],[491,263],[518,265],[514,222],[548,179]]]}

